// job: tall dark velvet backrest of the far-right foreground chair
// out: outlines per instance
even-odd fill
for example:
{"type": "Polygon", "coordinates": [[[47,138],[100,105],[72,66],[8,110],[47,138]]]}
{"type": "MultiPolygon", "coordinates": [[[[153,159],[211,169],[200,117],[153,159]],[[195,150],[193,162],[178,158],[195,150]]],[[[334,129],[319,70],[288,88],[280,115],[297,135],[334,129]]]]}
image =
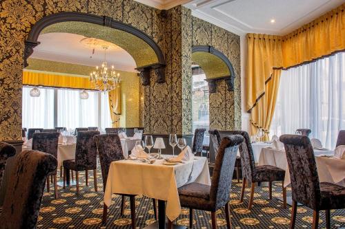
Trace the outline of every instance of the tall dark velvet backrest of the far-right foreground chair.
{"type": "Polygon", "coordinates": [[[282,135],[293,200],[318,210],[320,201],[319,176],[311,140],[304,135],[282,135]]]}

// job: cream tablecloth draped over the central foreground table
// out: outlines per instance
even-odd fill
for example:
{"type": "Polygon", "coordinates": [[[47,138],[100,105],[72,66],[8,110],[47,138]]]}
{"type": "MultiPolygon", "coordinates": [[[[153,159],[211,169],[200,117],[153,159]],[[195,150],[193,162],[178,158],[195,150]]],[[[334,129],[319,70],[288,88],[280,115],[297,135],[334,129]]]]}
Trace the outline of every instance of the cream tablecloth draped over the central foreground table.
{"type": "Polygon", "coordinates": [[[166,215],[172,221],[181,212],[177,188],[190,182],[210,185],[206,157],[195,157],[185,164],[168,166],[164,160],[148,164],[137,160],[121,160],[110,164],[104,203],[111,205],[112,193],[145,195],[166,201],[166,215]]]}

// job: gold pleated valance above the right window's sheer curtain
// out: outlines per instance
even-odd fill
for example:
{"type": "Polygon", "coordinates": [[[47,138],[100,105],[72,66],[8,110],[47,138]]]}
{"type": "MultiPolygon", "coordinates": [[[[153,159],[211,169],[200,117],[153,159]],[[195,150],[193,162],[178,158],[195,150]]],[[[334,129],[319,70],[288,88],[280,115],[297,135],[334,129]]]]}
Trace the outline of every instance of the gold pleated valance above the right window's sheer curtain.
{"type": "Polygon", "coordinates": [[[293,67],[345,50],[345,3],[282,37],[283,66],[293,67]]]}

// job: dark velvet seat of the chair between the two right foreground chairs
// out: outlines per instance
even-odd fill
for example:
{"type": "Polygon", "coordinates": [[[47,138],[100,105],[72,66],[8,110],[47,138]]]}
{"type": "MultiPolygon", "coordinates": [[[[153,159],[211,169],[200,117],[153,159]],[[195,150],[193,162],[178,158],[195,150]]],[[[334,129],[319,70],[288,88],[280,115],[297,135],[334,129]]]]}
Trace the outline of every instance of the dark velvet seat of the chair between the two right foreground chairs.
{"type": "Polygon", "coordinates": [[[284,177],[285,171],[282,168],[270,165],[263,165],[256,167],[256,173],[253,182],[283,181],[284,177]]]}

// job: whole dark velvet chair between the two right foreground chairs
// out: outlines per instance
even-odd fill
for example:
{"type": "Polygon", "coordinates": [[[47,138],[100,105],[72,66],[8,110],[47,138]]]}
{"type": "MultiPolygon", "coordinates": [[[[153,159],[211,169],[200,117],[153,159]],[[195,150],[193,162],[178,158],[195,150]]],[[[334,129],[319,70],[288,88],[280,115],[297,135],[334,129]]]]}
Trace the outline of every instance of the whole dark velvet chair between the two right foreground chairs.
{"type": "Polygon", "coordinates": [[[242,160],[242,190],[240,201],[244,199],[244,189],[246,183],[251,184],[250,199],[248,202],[248,209],[253,206],[255,183],[268,182],[269,199],[272,199],[272,182],[282,182],[283,190],[283,206],[286,208],[286,188],[284,187],[285,171],[282,168],[270,165],[255,166],[252,145],[250,143],[249,135],[246,131],[230,131],[231,134],[239,134],[244,137],[244,141],[239,145],[239,153],[242,160]]]}

